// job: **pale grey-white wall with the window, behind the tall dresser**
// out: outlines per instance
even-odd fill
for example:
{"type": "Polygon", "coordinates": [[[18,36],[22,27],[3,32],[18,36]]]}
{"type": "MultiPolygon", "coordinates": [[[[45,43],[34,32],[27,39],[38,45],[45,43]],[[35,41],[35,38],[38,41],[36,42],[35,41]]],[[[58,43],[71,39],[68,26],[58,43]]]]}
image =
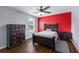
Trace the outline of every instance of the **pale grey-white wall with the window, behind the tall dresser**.
{"type": "Polygon", "coordinates": [[[9,7],[0,7],[0,48],[6,47],[6,40],[7,40],[6,24],[25,24],[26,25],[25,36],[26,38],[30,37],[33,32],[27,31],[27,25],[29,19],[37,21],[36,17],[31,16],[29,14],[18,12],[9,7]]]}

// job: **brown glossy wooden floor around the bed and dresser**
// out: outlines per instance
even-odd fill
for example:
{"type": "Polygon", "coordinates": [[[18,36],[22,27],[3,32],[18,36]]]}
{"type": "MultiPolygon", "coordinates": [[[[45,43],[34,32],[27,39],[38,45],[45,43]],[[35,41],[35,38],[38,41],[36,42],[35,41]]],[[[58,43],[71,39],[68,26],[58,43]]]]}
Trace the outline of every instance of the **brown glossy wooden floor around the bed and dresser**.
{"type": "MultiPolygon", "coordinates": [[[[78,53],[72,42],[68,42],[68,46],[70,49],[70,53],[78,53]]],[[[14,48],[4,48],[0,50],[0,53],[59,53],[58,51],[54,51],[53,49],[49,49],[45,46],[41,45],[33,45],[32,39],[28,39],[24,44],[19,45],[14,48]]]]}

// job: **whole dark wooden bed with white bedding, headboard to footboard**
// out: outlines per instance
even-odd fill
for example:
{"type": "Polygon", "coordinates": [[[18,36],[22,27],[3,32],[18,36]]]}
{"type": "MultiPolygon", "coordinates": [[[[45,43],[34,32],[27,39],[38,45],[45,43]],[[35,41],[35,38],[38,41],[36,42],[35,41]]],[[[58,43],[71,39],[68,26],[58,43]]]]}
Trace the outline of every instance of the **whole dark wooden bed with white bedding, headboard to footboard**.
{"type": "Polygon", "coordinates": [[[55,43],[58,39],[58,24],[44,24],[44,31],[33,34],[33,44],[53,48],[55,50],[55,43]]]}

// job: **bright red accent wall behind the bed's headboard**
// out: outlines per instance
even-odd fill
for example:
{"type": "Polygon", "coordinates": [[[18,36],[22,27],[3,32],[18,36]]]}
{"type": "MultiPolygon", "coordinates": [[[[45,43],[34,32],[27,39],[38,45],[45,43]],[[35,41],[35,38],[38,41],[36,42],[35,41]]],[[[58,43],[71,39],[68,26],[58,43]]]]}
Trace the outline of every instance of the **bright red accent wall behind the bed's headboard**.
{"type": "Polygon", "coordinates": [[[44,24],[58,24],[58,31],[71,32],[71,12],[38,17],[38,31],[44,30],[44,24]]]}

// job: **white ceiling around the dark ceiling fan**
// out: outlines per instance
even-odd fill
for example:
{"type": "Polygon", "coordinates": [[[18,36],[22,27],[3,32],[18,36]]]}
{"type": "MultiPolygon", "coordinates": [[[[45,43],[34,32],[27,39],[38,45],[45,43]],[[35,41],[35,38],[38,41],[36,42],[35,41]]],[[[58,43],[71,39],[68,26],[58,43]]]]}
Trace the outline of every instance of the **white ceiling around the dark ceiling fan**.
{"type": "MultiPolygon", "coordinates": [[[[44,6],[45,7],[45,6],[44,6]]],[[[16,9],[20,12],[28,13],[36,17],[40,17],[40,13],[37,12],[36,9],[39,9],[39,6],[10,6],[10,8],[16,9]]],[[[45,13],[42,16],[48,16],[52,14],[58,14],[63,12],[69,12],[71,11],[71,7],[68,6],[51,6],[47,11],[50,11],[51,13],[45,13]]]]}

